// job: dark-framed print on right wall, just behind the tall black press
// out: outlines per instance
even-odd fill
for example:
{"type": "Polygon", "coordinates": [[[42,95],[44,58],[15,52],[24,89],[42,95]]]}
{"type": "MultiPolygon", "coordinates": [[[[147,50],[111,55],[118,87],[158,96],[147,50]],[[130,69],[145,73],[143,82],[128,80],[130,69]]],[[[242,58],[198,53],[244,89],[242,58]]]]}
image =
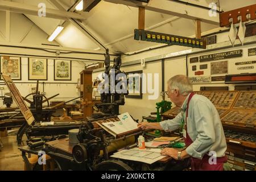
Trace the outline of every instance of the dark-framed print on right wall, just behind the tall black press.
{"type": "Polygon", "coordinates": [[[129,94],[127,98],[142,98],[142,71],[126,72],[127,89],[129,94]]]}

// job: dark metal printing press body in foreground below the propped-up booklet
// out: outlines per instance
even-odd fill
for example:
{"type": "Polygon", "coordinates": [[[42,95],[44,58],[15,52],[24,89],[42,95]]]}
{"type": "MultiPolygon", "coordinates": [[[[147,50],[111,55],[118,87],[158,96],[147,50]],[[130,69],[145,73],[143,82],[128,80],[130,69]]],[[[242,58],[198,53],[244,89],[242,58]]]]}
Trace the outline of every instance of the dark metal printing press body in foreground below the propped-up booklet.
{"type": "Polygon", "coordinates": [[[96,122],[88,122],[80,126],[77,136],[79,144],[71,144],[68,139],[53,140],[47,142],[42,150],[55,160],[60,170],[133,170],[125,162],[109,159],[109,156],[120,148],[134,144],[141,133],[137,130],[115,138],[96,122]]]}

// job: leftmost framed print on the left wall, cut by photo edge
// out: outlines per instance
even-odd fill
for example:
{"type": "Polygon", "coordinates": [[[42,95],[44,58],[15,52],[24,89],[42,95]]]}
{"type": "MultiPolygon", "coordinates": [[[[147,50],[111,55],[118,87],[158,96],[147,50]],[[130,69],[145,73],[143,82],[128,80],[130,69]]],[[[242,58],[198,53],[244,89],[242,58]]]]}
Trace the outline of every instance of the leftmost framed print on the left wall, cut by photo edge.
{"type": "Polygon", "coordinates": [[[1,73],[11,76],[13,80],[21,80],[20,57],[1,56],[1,73]]]}

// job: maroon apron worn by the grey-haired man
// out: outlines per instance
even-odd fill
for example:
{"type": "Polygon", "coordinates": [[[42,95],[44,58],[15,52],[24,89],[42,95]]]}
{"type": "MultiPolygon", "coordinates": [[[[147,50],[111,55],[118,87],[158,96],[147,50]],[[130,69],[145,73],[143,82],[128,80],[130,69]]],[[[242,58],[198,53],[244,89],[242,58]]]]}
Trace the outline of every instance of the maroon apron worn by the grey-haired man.
{"type": "MultiPolygon", "coordinates": [[[[186,117],[188,117],[188,105],[189,101],[193,97],[194,93],[192,92],[189,97],[188,97],[188,103],[187,103],[187,108],[186,108],[186,117]]],[[[187,132],[187,118],[185,119],[185,131],[186,131],[186,137],[184,138],[186,147],[190,146],[191,143],[193,143],[192,139],[189,137],[188,132],[187,132]]],[[[209,163],[209,156],[208,154],[205,154],[203,156],[203,159],[197,159],[191,157],[191,169],[192,171],[223,171],[223,164],[226,162],[227,157],[223,156],[221,158],[216,159],[216,164],[210,164],[209,163]]]]}

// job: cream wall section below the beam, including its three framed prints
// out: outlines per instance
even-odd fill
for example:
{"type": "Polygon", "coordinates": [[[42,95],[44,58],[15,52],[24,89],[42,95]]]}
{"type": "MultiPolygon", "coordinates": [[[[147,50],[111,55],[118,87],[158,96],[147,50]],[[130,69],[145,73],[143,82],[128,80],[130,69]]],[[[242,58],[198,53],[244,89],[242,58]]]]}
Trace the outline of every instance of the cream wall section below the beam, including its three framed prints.
{"type": "MultiPolygon", "coordinates": [[[[1,72],[10,75],[15,82],[16,87],[23,97],[32,93],[36,87],[36,80],[39,80],[39,91],[45,92],[46,97],[51,97],[57,93],[60,95],[51,101],[68,101],[79,97],[77,90],[77,80],[80,78],[80,72],[84,69],[84,64],[71,60],[47,59],[42,57],[13,57],[2,56],[0,61],[1,72]],[[58,67],[55,63],[68,63],[63,67],[58,67]],[[56,65],[58,68],[56,68],[56,65]],[[67,71],[68,68],[68,71],[67,71]],[[55,76],[55,71],[59,72],[59,77],[55,76]],[[67,71],[67,73],[65,73],[67,71]]],[[[0,80],[0,87],[3,87],[3,94],[9,93],[3,80],[0,80]]],[[[14,103],[12,106],[15,106],[14,103]]],[[[0,107],[3,103],[0,102],[0,107]]]]}

